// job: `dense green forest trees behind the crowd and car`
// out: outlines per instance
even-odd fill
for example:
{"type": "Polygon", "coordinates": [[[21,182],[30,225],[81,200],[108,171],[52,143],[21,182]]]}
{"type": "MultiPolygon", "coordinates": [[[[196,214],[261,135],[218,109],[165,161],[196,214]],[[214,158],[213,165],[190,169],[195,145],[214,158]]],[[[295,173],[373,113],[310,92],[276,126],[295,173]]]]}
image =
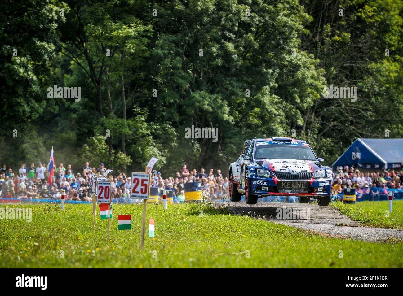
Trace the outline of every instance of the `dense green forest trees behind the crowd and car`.
{"type": "Polygon", "coordinates": [[[184,163],[226,173],[251,137],[295,130],[332,164],[357,137],[403,136],[402,0],[2,6],[0,143],[12,166],[54,146],[56,162],[79,167],[143,170],[154,156],[163,174],[184,163]],[[81,101],[48,99],[54,84],[81,87],[81,101]],[[357,87],[357,101],[324,99],[330,84],[357,87]],[[192,125],[218,128],[218,141],[185,139],[192,125]]]}

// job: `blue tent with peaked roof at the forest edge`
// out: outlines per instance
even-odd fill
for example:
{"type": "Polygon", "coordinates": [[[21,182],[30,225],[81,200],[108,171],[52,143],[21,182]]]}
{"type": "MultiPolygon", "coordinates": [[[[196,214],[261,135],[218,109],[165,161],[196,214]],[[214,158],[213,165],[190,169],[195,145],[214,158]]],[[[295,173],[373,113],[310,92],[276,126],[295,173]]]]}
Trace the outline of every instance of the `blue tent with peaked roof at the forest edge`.
{"type": "Polygon", "coordinates": [[[333,164],[364,169],[386,170],[401,168],[403,139],[356,139],[333,164]]]}

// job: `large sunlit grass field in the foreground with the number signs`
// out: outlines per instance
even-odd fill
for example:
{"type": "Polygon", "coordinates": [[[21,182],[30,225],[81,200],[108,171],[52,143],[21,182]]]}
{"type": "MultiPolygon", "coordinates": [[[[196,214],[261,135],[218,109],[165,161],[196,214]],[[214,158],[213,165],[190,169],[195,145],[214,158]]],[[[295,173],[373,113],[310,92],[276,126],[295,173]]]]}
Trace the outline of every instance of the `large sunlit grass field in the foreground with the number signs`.
{"type": "Polygon", "coordinates": [[[171,205],[165,211],[147,205],[143,250],[142,205],[114,205],[110,241],[99,210],[92,227],[91,205],[66,205],[64,212],[55,204],[8,205],[22,206],[33,209],[30,223],[0,219],[1,268],[403,267],[403,243],[317,236],[206,204],[171,205]],[[132,215],[132,230],[117,230],[118,214],[132,215]],[[149,218],[155,219],[155,240],[148,237],[149,218]]]}

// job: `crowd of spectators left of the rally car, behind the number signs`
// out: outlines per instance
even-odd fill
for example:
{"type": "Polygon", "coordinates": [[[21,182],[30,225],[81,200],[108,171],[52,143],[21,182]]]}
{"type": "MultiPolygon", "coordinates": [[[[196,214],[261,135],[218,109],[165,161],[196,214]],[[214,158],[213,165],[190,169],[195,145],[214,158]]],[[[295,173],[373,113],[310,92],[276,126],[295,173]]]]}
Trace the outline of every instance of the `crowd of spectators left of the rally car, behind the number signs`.
{"type": "MultiPolygon", "coordinates": [[[[61,199],[61,190],[65,190],[66,199],[70,201],[92,201],[91,188],[89,182],[91,173],[106,172],[104,164],[98,168],[90,167],[86,162],[79,172],[75,172],[71,165],[64,168],[60,164],[54,170],[54,176],[48,180],[48,170],[39,162],[31,164],[28,168],[26,164],[21,164],[18,173],[14,173],[12,168],[7,168],[4,164],[0,169],[0,190],[1,197],[11,199],[61,199]],[[50,181],[50,182],[49,182],[50,181]]],[[[200,173],[196,169],[189,172],[186,165],[175,177],[163,178],[160,172],[152,177],[151,186],[159,189],[171,190],[175,203],[185,201],[184,184],[187,182],[201,182],[204,195],[208,200],[222,199],[228,195],[229,181],[223,178],[221,171],[210,169],[207,174],[204,169],[200,173]]],[[[131,188],[131,177],[121,173],[113,177],[112,198],[129,198],[131,188]]]]}

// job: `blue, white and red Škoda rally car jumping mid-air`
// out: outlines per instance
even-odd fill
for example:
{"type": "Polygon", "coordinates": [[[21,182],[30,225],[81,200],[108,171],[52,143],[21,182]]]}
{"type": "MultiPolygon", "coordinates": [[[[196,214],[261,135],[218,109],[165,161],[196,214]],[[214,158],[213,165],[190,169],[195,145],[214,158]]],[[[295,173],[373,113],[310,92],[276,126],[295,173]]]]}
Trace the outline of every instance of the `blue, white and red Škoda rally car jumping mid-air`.
{"type": "Polygon", "coordinates": [[[238,160],[229,167],[229,195],[248,205],[269,195],[296,196],[300,203],[317,199],[328,205],[332,170],[322,166],[307,142],[291,138],[245,140],[238,160]]]}

